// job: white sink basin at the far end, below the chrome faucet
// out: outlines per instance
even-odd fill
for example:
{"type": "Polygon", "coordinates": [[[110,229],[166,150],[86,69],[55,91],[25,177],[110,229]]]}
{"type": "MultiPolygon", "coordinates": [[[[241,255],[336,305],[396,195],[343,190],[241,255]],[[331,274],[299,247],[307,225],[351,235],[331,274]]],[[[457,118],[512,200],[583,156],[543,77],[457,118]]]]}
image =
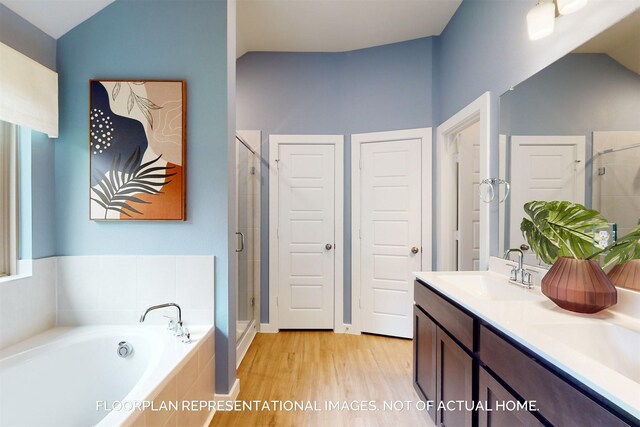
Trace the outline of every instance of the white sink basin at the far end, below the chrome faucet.
{"type": "Polygon", "coordinates": [[[434,274],[434,277],[482,300],[521,301],[537,297],[537,294],[530,289],[513,285],[506,278],[484,271],[443,272],[434,274]]]}

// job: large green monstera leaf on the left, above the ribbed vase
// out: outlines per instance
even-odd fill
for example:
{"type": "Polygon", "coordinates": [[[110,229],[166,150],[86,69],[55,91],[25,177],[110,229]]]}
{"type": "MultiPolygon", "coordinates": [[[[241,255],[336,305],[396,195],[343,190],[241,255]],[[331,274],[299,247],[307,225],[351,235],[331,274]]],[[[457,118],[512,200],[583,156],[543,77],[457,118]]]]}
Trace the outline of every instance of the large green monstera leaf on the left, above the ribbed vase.
{"type": "Polygon", "coordinates": [[[592,230],[608,224],[600,212],[568,201],[532,201],[524,211],[522,235],[547,264],[562,256],[588,258],[595,252],[592,230]]]}

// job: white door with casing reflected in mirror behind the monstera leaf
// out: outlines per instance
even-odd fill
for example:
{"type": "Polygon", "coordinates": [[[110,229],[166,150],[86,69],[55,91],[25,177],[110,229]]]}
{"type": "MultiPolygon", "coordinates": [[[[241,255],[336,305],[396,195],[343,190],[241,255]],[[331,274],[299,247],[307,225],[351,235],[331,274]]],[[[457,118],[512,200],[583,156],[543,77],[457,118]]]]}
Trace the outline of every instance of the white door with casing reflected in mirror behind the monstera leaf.
{"type": "MultiPolygon", "coordinates": [[[[584,136],[512,136],[509,248],[526,243],[520,223],[532,200],[568,200],[584,204],[584,136]]],[[[525,262],[537,264],[535,254],[525,262]]]]}

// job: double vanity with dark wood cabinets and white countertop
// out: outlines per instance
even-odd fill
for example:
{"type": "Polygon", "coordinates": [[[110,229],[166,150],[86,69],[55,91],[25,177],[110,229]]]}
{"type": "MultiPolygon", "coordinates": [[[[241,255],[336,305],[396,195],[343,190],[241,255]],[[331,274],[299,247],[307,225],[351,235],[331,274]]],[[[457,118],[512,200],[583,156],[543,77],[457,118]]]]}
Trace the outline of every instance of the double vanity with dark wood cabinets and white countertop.
{"type": "Polygon", "coordinates": [[[640,425],[640,295],[583,315],[485,272],[416,273],[414,387],[438,426],[640,425]],[[634,314],[635,313],[635,314],[634,314]]]}

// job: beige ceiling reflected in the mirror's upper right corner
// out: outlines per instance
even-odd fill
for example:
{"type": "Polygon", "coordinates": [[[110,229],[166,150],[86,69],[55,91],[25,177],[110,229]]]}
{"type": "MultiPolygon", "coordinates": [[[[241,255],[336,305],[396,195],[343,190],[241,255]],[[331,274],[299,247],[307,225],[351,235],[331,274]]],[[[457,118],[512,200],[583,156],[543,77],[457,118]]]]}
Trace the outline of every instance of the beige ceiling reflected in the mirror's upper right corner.
{"type": "Polygon", "coordinates": [[[595,36],[575,53],[605,53],[640,74],[640,10],[595,36]]]}

